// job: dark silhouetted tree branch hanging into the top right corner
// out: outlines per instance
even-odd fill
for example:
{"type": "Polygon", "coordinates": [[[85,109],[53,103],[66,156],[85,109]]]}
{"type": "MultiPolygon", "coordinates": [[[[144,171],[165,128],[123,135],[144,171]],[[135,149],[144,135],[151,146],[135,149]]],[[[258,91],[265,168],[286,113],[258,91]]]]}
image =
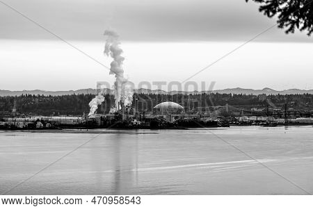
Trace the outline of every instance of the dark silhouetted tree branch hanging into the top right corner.
{"type": "MultiPolygon", "coordinates": [[[[249,0],[246,0],[247,2],[249,0]]],[[[286,28],[286,33],[294,33],[298,28],[313,33],[313,1],[312,0],[251,0],[261,3],[259,11],[267,17],[278,16],[278,27],[286,28]]]]}

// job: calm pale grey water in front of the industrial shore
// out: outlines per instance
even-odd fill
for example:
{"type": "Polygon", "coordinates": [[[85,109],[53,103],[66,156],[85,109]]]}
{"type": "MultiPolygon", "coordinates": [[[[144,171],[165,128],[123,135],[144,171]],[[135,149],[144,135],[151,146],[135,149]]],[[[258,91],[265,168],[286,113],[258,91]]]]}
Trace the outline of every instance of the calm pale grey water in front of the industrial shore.
{"type": "Polygon", "coordinates": [[[313,193],[313,128],[0,132],[0,193],[313,193]],[[252,160],[249,156],[259,160],[252,160]]]}

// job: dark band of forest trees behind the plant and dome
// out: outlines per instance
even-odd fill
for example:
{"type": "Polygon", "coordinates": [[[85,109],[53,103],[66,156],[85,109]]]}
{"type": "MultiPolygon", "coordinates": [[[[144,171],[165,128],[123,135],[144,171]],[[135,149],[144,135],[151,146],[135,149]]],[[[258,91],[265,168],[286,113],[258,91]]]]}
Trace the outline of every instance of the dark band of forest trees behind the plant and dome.
{"type": "MultiPolygon", "coordinates": [[[[24,115],[82,115],[89,112],[88,103],[93,99],[93,94],[64,95],[58,97],[45,97],[42,95],[26,94],[19,97],[0,97],[0,117],[10,114],[13,108],[24,115]],[[4,112],[4,113],[3,113],[4,112]]],[[[109,112],[114,103],[113,95],[104,95],[105,102],[99,106],[98,112],[109,112]]],[[[277,107],[283,107],[285,103],[291,108],[301,110],[313,109],[313,94],[289,94],[269,95],[266,101],[262,101],[256,95],[246,94],[134,94],[133,107],[139,111],[152,111],[152,108],[163,101],[174,101],[181,104],[186,110],[195,110],[198,107],[253,106],[266,108],[268,101],[277,107]]]]}

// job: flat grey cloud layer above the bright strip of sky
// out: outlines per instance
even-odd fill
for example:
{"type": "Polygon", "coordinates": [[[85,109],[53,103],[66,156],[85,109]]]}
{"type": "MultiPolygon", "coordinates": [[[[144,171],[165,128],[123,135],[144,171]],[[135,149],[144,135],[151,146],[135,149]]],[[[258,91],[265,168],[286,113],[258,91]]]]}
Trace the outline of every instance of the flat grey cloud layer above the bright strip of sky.
{"type": "MultiPolygon", "coordinates": [[[[275,24],[244,0],[12,0],[13,6],[65,40],[102,40],[105,28],[115,28],[122,40],[189,42],[246,41],[275,24]]],[[[54,39],[42,28],[5,6],[0,7],[1,39],[54,39]]],[[[285,35],[272,28],[265,42],[312,42],[305,33],[285,35]]]]}

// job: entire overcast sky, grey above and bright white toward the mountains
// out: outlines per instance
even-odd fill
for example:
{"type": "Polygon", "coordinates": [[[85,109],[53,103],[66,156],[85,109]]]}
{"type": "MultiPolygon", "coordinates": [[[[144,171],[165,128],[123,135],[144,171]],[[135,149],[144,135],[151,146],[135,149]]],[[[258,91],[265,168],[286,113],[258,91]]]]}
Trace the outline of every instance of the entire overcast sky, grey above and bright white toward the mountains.
{"type": "MultiPolygon", "coordinates": [[[[244,0],[4,0],[105,65],[106,28],[120,34],[131,81],[184,81],[275,24],[244,0]]],[[[0,3],[0,89],[76,90],[113,82],[108,70],[0,3]],[[5,78],[5,79],[3,79],[5,78]]],[[[277,27],[191,81],[312,89],[312,37],[277,27]]]]}

